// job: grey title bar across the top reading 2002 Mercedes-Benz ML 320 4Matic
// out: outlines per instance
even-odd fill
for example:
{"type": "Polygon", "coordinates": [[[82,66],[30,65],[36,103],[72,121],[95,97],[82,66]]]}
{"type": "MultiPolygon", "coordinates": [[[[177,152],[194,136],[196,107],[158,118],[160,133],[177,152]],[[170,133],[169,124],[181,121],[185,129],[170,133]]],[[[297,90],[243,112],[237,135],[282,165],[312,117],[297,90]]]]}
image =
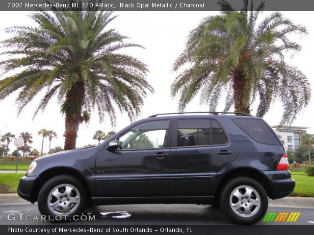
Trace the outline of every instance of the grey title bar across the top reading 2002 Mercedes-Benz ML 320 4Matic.
{"type": "MultiPolygon", "coordinates": [[[[219,0],[1,0],[1,11],[51,10],[113,10],[113,11],[216,11],[219,0]]],[[[227,0],[234,10],[243,7],[243,0],[227,0]]],[[[264,1],[263,10],[313,11],[313,0],[253,0],[255,9],[264,1]]],[[[251,0],[249,0],[251,2],[251,0]]],[[[251,4],[249,3],[249,6],[251,4]]]]}

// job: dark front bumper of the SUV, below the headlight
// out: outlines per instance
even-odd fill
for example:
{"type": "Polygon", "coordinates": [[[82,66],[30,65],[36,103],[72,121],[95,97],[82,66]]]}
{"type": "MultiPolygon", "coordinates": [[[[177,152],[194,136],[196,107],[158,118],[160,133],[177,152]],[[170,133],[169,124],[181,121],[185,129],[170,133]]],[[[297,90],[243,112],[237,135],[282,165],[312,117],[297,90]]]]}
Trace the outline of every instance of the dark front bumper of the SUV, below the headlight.
{"type": "Polygon", "coordinates": [[[18,187],[18,194],[23,199],[34,203],[37,201],[37,197],[33,195],[33,189],[38,176],[24,176],[20,179],[18,187]]]}

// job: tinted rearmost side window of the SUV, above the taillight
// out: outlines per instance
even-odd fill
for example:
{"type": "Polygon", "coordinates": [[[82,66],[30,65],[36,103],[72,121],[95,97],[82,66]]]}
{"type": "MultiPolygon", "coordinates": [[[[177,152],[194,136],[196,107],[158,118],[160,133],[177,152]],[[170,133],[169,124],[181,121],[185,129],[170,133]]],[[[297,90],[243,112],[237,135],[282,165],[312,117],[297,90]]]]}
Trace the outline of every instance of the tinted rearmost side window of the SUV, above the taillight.
{"type": "Polygon", "coordinates": [[[236,118],[233,121],[253,140],[260,143],[280,145],[272,130],[262,119],[236,118]]]}

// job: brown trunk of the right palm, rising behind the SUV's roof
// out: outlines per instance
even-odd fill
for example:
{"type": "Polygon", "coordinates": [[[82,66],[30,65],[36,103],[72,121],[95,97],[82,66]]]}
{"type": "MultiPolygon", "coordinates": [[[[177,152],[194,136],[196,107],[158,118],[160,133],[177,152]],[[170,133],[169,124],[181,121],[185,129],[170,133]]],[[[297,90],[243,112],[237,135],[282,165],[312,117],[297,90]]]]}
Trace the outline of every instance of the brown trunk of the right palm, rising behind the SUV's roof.
{"type": "Polygon", "coordinates": [[[233,82],[235,112],[249,114],[250,105],[244,104],[244,87],[246,78],[241,73],[236,72],[233,82]]]}

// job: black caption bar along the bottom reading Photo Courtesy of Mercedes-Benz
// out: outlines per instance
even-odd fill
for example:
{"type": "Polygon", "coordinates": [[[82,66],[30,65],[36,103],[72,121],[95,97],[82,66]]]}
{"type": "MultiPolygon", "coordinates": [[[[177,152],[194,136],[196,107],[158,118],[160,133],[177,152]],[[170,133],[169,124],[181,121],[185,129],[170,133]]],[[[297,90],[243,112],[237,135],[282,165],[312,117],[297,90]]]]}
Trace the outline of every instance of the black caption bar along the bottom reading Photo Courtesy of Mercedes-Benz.
{"type": "Polygon", "coordinates": [[[1,235],[295,235],[312,225],[0,225],[1,235]]]}

